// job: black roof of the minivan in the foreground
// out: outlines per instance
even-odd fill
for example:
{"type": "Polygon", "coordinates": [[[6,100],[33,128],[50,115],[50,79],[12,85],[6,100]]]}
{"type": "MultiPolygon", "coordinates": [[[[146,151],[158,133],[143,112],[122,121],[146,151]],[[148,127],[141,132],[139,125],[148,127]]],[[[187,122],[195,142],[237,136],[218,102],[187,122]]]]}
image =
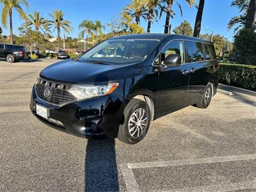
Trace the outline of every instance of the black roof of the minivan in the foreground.
{"type": "Polygon", "coordinates": [[[197,38],[193,36],[186,36],[186,35],[175,35],[175,34],[163,34],[163,33],[146,33],[146,34],[136,34],[136,35],[121,35],[116,36],[111,39],[132,39],[132,38],[138,38],[138,39],[158,39],[158,40],[172,40],[172,39],[186,39],[186,40],[195,40],[199,42],[207,42],[211,43],[209,40],[205,40],[203,38],[197,38]]]}

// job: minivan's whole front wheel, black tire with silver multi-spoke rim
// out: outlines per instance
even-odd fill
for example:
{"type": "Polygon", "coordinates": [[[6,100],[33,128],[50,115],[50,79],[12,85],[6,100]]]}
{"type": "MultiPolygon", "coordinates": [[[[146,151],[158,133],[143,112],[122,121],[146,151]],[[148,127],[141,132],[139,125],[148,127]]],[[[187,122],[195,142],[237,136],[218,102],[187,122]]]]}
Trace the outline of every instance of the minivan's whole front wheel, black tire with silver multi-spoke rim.
{"type": "Polygon", "coordinates": [[[140,142],[147,134],[150,119],[148,104],[140,99],[132,99],[124,109],[124,124],[119,126],[118,140],[127,144],[140,142]]]}

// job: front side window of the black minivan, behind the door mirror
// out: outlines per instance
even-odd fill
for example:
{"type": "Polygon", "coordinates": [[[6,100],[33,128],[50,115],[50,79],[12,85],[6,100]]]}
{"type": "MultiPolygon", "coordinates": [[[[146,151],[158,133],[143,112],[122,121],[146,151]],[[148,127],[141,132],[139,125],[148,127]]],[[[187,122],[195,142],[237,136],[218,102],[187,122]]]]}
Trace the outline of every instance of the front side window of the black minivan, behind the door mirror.
{"type": "Polygon", "coordinates": [[[161,52],[161,65],[164,65],[164,60],[170,54],[179,54],[181,57],[181,63],[185,63],[184,42],[180,40],[174,40],[167,44],[161,52]]]}

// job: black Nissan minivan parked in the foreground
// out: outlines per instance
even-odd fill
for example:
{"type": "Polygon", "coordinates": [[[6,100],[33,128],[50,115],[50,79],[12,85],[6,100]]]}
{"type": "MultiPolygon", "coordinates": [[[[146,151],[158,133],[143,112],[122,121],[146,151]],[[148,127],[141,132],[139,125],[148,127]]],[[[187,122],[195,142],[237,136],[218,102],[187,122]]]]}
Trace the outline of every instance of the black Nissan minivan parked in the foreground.
{"type": "Polygon", "coordinates": [[[219,68],[208,40],[118,36],[44,68],[30,108],[45,124],[76,136],[117,137],[135,144],[152,120],[186,106],[207,108],[219,68]]]}

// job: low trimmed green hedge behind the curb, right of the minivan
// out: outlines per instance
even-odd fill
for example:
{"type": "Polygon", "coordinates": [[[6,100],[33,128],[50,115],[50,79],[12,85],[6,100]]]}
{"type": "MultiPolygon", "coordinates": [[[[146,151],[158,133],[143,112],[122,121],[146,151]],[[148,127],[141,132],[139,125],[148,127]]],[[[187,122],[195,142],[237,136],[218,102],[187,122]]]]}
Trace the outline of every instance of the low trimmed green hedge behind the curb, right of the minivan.
{"type": "Polygon", "coordinates": [[[221,63],[220,83],[256,91],[256,66],[221,63]]]}

